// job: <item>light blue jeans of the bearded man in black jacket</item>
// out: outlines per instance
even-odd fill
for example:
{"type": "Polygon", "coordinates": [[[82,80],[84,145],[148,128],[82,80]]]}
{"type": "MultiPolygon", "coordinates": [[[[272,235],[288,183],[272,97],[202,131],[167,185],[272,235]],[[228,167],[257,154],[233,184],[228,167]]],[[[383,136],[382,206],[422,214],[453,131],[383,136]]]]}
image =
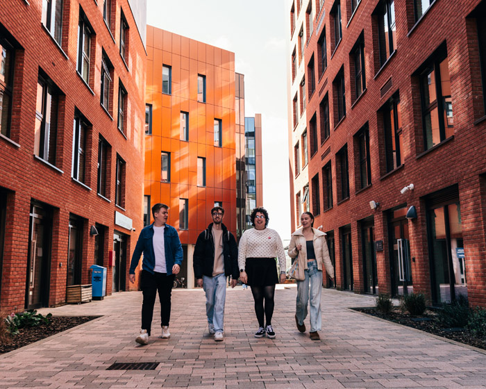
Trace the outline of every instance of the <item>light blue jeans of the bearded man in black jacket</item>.
{"type": "Polygon", "coordinates": [[[226,276],[224,273],[214,277],[203,276],[203,288],[206,292],[208,324],[213,324],[216,332],[223,332],[226,276]]]}

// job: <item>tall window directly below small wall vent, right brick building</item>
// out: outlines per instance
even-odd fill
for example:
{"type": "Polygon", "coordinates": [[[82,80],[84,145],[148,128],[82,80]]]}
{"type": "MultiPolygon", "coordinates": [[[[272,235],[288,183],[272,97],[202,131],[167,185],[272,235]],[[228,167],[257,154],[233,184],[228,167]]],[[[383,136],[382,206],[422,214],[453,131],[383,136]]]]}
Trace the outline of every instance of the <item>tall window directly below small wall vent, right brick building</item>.
{"type": "Polygon", "coordinates": [[[401,131],[400,96],[398,92],[381,110],[385,135],[385,160],[387,172],[403,163],[403,134],[401,131]]]}

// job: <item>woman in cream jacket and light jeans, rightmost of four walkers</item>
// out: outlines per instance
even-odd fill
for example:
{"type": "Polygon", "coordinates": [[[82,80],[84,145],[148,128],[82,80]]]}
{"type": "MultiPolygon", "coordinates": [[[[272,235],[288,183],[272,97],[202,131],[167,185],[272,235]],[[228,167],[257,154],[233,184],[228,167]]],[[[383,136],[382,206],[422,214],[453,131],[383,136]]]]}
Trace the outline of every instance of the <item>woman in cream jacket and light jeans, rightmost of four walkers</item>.
{"type": "Polygon", "coordinates": [[[310,338],[319,340],[321,330],[322,266],[334,281],[334,267],[330,262],[326,234],[315,228],[314,215],[305,212],[301,216],[302,228],[292,233],[289,256],[298,261],[294,278],[297,280],[295,322],[297,329],[305,332],[303,321],[307,317],[310,295],[310,338]]]}

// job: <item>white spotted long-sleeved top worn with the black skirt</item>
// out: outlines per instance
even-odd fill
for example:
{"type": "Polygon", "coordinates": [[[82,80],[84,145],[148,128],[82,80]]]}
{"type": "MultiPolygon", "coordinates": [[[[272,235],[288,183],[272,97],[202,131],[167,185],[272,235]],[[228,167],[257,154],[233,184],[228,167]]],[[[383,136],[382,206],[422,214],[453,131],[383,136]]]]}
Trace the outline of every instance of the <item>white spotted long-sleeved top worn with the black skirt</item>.
{"type": "Polygon", "coordinates": [[[238,248],[238,266],[244,270],[246,258],[278,258],[280,273],[285,273],[287,258],[277,231],[272,229],[249,229],[244,231],[238,248]]]}

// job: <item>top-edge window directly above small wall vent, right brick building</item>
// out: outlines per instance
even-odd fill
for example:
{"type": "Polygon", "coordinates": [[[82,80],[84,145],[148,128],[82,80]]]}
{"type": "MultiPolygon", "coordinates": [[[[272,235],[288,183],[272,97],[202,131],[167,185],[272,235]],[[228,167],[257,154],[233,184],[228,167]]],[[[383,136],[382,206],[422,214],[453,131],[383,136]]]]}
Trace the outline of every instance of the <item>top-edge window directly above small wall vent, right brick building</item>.
{"type": "Polygon", "coordinates": [[[389,56],[396,50],[396,23],[394,0],[383,0],[377,8],[378,17],[378,51],[380,66],[383,66],[389,56]]]}

